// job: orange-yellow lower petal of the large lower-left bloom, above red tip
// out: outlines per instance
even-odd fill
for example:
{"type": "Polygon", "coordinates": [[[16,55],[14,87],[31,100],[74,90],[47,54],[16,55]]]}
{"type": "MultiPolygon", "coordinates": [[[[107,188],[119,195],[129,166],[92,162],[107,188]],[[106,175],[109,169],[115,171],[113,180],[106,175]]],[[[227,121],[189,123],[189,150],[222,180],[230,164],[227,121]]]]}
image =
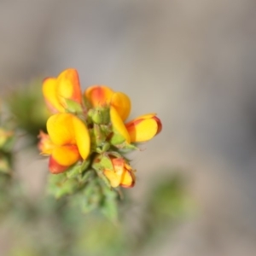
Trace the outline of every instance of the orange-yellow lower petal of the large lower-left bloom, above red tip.
{"type": "Polygon", "coordinates": [[[55,147],[51,156],[61,166],[72,166],[81,158],[79,149],[75,145],[55,147]]]}

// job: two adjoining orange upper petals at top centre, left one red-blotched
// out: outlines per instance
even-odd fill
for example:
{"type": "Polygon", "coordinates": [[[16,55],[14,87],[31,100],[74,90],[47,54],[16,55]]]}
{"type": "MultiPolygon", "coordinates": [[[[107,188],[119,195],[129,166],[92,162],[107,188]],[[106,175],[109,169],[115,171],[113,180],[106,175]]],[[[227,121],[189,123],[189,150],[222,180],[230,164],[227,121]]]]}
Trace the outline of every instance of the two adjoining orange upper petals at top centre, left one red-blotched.
{"type": "Polygon", "coordinates": [[[131,112],[131,101],[122,92],[115,92],[106,85],[92,85],[84,92],[92,107],[110,106],[116,109],[124,121],[131,112]]]}

